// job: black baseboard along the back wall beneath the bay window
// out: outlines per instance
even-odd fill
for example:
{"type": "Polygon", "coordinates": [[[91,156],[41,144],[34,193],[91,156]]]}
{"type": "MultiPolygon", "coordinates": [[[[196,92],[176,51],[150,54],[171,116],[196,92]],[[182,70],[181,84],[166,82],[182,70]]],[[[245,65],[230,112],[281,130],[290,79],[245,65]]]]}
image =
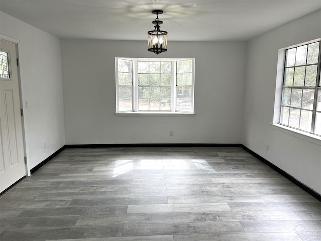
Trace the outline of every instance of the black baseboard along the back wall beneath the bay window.
{"type": "Polygon", "coordinates": [[[134,143],[134,144],[67,144],[65,148],[112,147],[242,147],[239,143],[134,143]]]}

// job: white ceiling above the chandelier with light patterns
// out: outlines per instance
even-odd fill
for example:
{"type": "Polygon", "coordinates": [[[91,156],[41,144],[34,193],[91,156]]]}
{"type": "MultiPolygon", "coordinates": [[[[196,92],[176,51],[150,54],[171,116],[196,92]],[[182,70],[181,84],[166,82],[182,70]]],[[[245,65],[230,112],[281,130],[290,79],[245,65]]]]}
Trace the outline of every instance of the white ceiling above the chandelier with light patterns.
{"type": "Polygon", "coordinates": [[[164,11],[169,41],[235,41],[321,9],[321,0],[0,0],[1,11],[60,38],[146,40],[153,9],[164,11]]]}

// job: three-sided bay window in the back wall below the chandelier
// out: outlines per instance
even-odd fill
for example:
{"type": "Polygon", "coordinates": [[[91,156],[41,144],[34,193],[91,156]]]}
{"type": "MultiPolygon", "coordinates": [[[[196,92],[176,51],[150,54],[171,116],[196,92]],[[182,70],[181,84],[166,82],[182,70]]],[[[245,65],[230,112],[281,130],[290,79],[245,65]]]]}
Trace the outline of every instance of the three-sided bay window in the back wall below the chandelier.
{"type": "Polygon", "coordinates": [[[116,58],[117,113],[193,113],[194,59],[116,58]]]}

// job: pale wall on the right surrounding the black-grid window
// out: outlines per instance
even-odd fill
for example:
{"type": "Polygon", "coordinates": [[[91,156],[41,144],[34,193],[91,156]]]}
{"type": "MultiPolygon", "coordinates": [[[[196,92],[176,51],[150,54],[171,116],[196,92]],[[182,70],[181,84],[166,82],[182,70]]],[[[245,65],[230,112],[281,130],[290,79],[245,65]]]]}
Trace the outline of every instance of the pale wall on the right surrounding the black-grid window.
{"type": "Polygon", "coordinates": [[[278,50],[321,37],[321,10],[248,42],[243,144],[321,193],[321,141],[273,127],[278,50]],[[266,151],[269,144],[269,151],[266,151]]]}

